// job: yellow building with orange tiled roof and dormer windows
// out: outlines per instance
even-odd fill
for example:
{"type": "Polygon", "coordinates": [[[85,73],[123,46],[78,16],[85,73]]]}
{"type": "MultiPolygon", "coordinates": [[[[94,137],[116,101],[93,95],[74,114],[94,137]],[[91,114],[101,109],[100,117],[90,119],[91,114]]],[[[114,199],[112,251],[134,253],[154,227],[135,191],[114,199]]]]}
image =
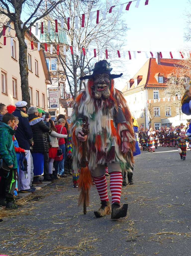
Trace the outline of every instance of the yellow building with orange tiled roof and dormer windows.
{"type": "MultiPolygon", "coordinates": [[[[180,120],[177,110],[173,106],[167,107],[163,101],[166,81],[170,74],[178,69],[179,62],[178,59],[161,59],[158,54],[157,59],[148,59],[123,88],[122,92],[139,127],[142,124],[144,128],[149,128],[151,124],[155,129],[159,129],[165,125],[179,125],[183,119],[188,119],[181,116],[180,120]]],[[[186,120],[183,123],[186,123],[186,120]]]]}

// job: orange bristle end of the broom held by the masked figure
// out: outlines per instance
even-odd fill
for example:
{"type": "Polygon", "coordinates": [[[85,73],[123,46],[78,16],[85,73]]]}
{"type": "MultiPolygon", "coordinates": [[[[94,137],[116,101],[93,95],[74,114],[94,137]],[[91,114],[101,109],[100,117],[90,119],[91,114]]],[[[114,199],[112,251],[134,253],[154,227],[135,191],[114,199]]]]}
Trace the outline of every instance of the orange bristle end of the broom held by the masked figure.
{"type": "Polygon", "coordinates": [[[86,214],[86,206],[89,205],[90,197],[89,191],[92,184],[92,176],[88,166],[82,167],[80,170],[80,178],[78,182],[78,187],[80,188],[80,196],[78,205],[84,206],[84,214],[86,214]]]}

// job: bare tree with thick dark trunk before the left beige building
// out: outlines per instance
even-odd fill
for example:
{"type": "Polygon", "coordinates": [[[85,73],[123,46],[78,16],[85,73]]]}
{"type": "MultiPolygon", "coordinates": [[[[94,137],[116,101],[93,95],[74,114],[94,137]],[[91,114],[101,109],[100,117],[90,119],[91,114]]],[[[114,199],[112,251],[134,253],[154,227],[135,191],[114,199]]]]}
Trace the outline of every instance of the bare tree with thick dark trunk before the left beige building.
{"type": "Polygon", "coordinates": [[[14,22],[15,33],[19,42],[19,67],[22,99],[26,101],[29,106],[30,95],[28,83],[27,45],[24,41],[24,35],[31,26],[52,12],[53,9],[62,1],[63,0],[51,0],[48,2],[43,0],[0,0],[0,15],[6,15],[10,21],[14,22]],[[24,23],[21,21],[21,15],[23,12],[26,16],[24,23]]]}

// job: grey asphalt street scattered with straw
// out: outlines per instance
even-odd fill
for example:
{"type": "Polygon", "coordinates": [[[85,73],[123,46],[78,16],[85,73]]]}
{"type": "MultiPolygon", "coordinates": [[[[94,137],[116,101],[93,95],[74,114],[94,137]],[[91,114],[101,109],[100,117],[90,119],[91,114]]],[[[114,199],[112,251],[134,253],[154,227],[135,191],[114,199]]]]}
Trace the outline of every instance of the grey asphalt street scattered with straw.
{"type": "MultiPolygon", "coordinates": [[[[135,157],[134,185],[122,188],[128,216],[96,219],[95,186],[83,215],[72,178],[23,198],[18,211],[0,211],[0,254],[14,256],[191,255],[191,151],[158,147],[135,157]]],[[[108,194],[109,191],[109,177],[108,194]]]]}

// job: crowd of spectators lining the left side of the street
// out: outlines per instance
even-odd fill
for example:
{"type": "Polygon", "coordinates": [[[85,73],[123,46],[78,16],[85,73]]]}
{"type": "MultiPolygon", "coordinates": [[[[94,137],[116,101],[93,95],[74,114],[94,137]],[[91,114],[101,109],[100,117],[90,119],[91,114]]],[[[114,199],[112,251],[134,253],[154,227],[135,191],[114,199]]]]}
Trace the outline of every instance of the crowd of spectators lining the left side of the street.
{"type": "Polygon", "coordinates": [[[25,101],[0,103],[0,206],[18,209],[19,193],[72,175],[72,166],[66,165],[70,123],[62,114],[53,121],[42,109],[27,109],[25,101]]]}

